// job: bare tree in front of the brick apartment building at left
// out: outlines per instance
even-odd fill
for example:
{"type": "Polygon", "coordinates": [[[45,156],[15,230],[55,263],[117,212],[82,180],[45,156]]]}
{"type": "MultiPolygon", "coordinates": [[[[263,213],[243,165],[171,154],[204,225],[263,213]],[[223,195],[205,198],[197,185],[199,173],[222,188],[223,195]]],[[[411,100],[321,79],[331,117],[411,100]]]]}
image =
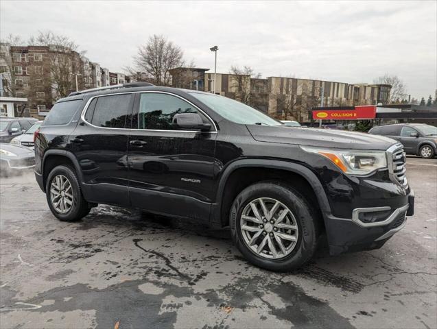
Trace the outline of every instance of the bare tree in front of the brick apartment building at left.
{"type": "MultiPolygon", "coordinates": [[[[75,90],[74,77],[71,73],[82,71],[81,56],[84,51],[78,50],[78,45],[67,36],[54,34],[53,32],[39,32],[38,36],[29,39],[29,45],[49,47],[49,75],[44,79],[49,80],[51,88],[56,93],[55,98],[66,97],[75,90]]],[[[82,84],[82,82],[81,82],[82,84]]]]}

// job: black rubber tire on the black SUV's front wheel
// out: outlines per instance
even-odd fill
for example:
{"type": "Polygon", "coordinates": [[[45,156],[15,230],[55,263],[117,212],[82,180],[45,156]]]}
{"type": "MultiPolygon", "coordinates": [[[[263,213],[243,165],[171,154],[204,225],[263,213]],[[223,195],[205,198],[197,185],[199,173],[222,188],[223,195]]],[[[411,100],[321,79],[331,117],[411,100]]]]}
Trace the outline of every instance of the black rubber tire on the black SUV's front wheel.
{"type": "MultiPolygon", "coordinates": [[[[261,215],[262,212],[259,212],[261,215]]],[[[265,212],[264,212],[265,214],[265,212]]],[[[309,202],[303,195],[300,195],[297,191],[295,191],[291,186],[286,184],[282,184],[280,182],[259,182],[248,186],[245,188],[239,195],[235,198],[233,205],[231,207],[230,213],[230,221],[231,221],[231,235],[233,242],[243,254],[243,256],[250,261],[250,263],[262,267],[263,269],[268,269],[270,271],[290,271],[292,269],[296,269],[298,267],[303,266],[307,263],[308,260],[314,255],[317,249],[318,236],[320,232],[320,224],[318,221],[318,217],[316,212],[309,206],[309,202]],[[241,223],[245,221],[244,218],[248,218],[244,215],[243,212],[249,211],[249,213],[255,214],[252,209],[252,204],[255,202],[255,206],[260,208],[262,211],[261,204],[257,206],[257,202],[262,199],[265,204],[265,208],[270,212],[273,206],[269,207],[270,204],[276,204],[279,202],[281,204],[278,209],[278,216],[273,216],[271,224],[270,221],[265,223],[265,219],[263,218],[263,232],[255,241],[258,241],[255,246],[249,247],[250,241],[252,241],[253,236],[259,233],[259,231],[254,232],[252,236],[250,236],[251,232],[246,230],[241,230],[241,223]],[[252,204],[251,204],[252,203],[252,204]],[[292,242],[281,239],[283,243],[282,249],[279,247],[279,243],[276,240],[278,233],[283,233],[285,230],[283,228],[276,227],[276,220],[279,220],[281,217],[281,213],[285,211],[285,207],[290,211],[286,212],[288,215],[285,215],[285,221],[288,221],[289,225],[292,224],[293,227],[297,226],[297,232],[293,230],[288,230],[287,236],[294,235],[294,245],[292,242]],[[291,214],[290,214],[291,213],[291,214]],[[268,225],[270,223],[270,226],[268,225]],[[276,230],[276,232],[274,231],[276,230]],[[264,235],[265,234],[265,235],[264,235]],[[264,235],[264,238],[262,238],[264,235]],[[257,249],[259,245],[263,243],[260,242],[265,239],[267,236],[268,242],[265,243],[264,250],[261,251],[261,254],[254,249],[257,249]],[[270,237],[269,237],[270,236],[270,237]],[[269,239],[270,242],[269,242],[269,239]],[[250,241],[249,241],[250,240],[250,241]],[[274,242],[276,240],[276,242],[274,242]],[[290,242],[290,245],[287,243],[290,242]],[[268,249],[271,249],[270,243],[274,243],[274,249],[276,249],[276,257],[272,252],[270,255],[268,254],[268,249]],[[264,253],[264,254],[263,254],[264,253]]],[[[261,217],[264,217],[261,215],[261,217]]],[[[253,219],[253,217],[250,217],[253,219]]],[[[281,222],[284,224],[285,222],[281,222]]],[[[244,223],[244,227],[252,225],[251,221],[246,221],[244,223]]],[[[254,226],[259,225],[258,223],[254,223],[254,226]]],[[[289,225],[290,226],[290,225],[289,225]]],[[[290,226],[290,228],[292,227],[290,226]]],[[[282,226],[281,226],[282,227],[282,226]]],[[[250,228],[252,230],[252,228],[250,228]]],[[[255,230],[255,228],[253,229],[255,230]]]]}

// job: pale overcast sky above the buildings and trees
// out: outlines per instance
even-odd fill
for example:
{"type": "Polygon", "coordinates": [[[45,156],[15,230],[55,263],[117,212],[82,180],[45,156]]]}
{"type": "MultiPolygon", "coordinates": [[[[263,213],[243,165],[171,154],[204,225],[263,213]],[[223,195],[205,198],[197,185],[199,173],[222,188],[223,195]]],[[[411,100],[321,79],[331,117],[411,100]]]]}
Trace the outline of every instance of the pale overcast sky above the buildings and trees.
{"type": "Polygon", "coordinates": [[[252,66],[263,77],[372,83],[398,75],[412,97],[437,88],[437,1],[0,2],[0,34],[23,39],[51,29],[110,71],[163,34],[196,66],[252,66]]]}

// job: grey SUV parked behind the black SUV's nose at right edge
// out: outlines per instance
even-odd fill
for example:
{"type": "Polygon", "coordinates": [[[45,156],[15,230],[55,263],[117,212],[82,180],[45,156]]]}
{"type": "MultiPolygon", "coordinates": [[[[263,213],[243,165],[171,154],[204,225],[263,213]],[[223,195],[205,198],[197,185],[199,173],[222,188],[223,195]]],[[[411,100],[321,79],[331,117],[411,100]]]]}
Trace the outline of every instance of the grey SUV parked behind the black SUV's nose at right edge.
{"type": "Polygon", "coordinates": [[[422,158],[434,158],[437,154],[437,127],[423,123],[399,123],[380,125],[369,130],[369,134],[393,138],[402,143],[406,154],[422,158]]]}

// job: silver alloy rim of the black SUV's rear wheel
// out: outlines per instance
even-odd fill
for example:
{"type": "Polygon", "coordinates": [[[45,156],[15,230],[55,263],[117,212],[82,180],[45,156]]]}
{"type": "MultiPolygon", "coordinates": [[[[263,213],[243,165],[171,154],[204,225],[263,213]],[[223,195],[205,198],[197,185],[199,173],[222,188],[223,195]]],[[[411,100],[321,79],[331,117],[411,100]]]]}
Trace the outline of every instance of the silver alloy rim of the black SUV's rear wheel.
{"type": "Polygon", "coordinates": [[[71,183],[64,175],[56,175],[50,184],[50,200],[53,208],[65,214],[73,206],[73,190],[71,183]]]}

